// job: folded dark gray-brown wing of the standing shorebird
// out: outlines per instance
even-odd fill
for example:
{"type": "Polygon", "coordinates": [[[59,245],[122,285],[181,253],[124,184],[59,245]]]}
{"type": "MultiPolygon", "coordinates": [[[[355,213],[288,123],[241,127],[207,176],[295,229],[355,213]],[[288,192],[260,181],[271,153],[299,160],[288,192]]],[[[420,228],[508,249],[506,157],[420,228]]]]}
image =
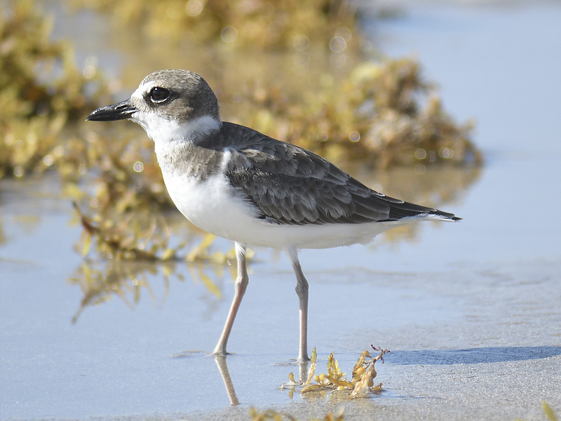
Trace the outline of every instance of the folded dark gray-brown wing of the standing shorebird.
{"type": "Polygon", "coordinates": [[[355,224],[440,214],[375,192],[306,149],[243,129],[242,144],[231,149],[227,176],[261,218],[289,225],[355,224]]]}

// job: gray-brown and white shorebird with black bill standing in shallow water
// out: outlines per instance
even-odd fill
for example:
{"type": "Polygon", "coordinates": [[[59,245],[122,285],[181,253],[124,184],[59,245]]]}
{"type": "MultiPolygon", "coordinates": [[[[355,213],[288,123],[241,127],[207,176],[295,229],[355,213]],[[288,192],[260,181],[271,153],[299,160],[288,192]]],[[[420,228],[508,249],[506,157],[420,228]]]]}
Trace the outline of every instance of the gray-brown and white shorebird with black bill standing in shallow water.
{"type": "Polygon", "coordinates": [[[248,286],[248,246],[284,250],[296,274],[298,360],[308,359],[308,281],[298,250],[369,243],[420,220],[457,221],[452,213],[393,199],[366,187],[321,156],[220,119],[215,93],[181,69],[149,74],[128,100],[87,120],[129,119],[149,138],[173,203],[191,223],[235,242],[234,300],[215,354],[226,354],[248,286]]]}

